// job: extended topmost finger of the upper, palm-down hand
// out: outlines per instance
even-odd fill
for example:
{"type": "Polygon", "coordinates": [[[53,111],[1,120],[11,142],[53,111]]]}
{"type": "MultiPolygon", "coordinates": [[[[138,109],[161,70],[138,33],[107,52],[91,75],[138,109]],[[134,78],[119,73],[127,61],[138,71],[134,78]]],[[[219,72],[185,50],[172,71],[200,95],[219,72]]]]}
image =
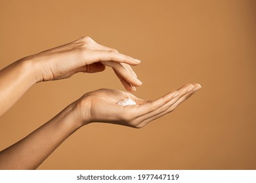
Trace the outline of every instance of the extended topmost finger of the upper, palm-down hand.
{"type": "Polygon", "coordinates": [[[140,63],[139,59],[131,58],[130,56],[125,56],[116,52],[115,50],[90,50],[84,52],[84,58],[87,58],[87,64],[94,62],[104,62],[104,61],[115,61],[117,63],[127,63],[129,65],[138,65],[140,63]],[[88,52],[91,52],[88,54],[88,52]],[[90,58],[87,56],[90,55],[90,58]]]}

